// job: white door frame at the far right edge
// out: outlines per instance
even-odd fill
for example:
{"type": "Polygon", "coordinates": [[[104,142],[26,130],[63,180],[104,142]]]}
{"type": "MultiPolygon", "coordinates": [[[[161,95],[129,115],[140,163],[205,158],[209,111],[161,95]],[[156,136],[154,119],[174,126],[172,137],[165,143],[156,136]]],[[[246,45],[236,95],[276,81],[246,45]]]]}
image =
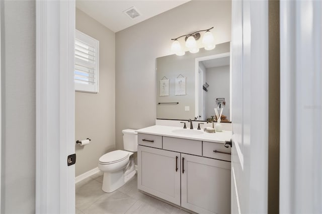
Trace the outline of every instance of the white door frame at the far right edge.
{"type": "Polygon", "coordinates": [[[280,213],[322,210],[321,9],[280,2],[280,213]]]}

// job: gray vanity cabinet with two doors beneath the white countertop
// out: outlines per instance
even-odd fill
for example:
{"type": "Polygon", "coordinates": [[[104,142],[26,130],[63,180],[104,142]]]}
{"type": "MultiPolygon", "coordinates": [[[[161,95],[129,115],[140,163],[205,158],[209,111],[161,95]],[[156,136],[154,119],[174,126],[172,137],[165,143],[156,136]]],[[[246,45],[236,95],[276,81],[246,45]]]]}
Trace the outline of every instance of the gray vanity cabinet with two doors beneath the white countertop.
{"type": "Polygon", "coordinates": [[[197,213],[230,213],[230,148],[140,133],[138,144],[138,189],[197,213]]]}

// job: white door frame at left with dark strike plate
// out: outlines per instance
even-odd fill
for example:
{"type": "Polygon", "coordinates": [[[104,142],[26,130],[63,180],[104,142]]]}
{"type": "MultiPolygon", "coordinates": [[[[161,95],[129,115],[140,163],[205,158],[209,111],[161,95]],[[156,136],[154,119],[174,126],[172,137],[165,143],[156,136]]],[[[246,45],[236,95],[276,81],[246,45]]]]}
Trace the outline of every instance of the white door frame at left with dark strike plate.
{"type": "Polygon", "coordinates": [[[36,1],[36,213],[74,213],[75,1],[36,1]]]}

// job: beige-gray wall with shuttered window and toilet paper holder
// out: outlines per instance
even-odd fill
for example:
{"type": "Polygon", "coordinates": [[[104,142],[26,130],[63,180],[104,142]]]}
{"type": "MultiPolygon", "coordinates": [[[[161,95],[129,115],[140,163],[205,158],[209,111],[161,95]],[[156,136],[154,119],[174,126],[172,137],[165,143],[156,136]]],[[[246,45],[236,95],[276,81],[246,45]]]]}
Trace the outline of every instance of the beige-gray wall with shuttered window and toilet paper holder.
{"type": "Polygon", "coordinates": [[[75,92],[75,139],[92,140],[75,146],[78,176],[115,149],[115,33],[78,9],[76,29],[100,41],[99,93],[75,92]]]}

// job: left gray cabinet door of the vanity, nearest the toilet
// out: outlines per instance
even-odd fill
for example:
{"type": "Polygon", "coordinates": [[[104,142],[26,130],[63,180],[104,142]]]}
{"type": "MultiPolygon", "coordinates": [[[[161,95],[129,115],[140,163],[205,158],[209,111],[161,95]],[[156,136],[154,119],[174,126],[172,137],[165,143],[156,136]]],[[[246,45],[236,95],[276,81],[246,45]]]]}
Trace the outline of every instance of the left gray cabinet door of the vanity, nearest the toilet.
{"type": "Polygon", "coordinates": [[[180,153],[138,146],[137,188],[180,205],[180,153]]]}

